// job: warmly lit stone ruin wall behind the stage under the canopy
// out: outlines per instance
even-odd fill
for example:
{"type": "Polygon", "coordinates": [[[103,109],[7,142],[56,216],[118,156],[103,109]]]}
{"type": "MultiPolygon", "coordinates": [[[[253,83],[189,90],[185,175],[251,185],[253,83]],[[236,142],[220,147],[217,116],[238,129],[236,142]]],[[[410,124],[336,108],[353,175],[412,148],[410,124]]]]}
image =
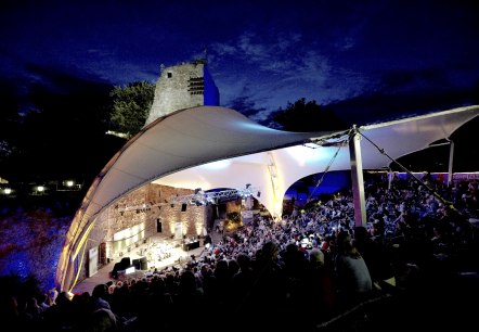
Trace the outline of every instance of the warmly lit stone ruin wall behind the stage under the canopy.
{"type": "Polygon", "coordinates": [[[152,237],[181,241],[176,233],[178,224],[181,224],[183,237],[203,235],[208,218],[212,218],[212,206],[189,204],[182,210],[182,204],[168,203],[171,196],[192,193],[194,191],[190,189],[147,184],[120,197],[96,219],[83,253],[79,279],[88,277],[88,252],[92,247],[99,247],[99,264],[102,266],[108,260],[118,259],[120,252],[128,256],[129,251],[152,237]],[[158,221],[161,222],[160,232],[158,221]],[[115,234],[125,230],[129,230],[125,235],[128,239],[114,239],[115,234]]]}

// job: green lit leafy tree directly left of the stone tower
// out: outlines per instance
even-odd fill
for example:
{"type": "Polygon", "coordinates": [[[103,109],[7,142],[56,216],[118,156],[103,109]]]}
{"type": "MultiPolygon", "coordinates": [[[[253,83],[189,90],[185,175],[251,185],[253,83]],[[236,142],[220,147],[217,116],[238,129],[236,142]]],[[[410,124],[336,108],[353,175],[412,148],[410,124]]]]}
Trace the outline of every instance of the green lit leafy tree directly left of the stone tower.
{"type": "Polygon", "coordinates": [[[147,81],[131,82],[126,87],[115,87],[111,114],[112,129],[133,137],[144,126],[155,97],[155,85],[147,81]]]}

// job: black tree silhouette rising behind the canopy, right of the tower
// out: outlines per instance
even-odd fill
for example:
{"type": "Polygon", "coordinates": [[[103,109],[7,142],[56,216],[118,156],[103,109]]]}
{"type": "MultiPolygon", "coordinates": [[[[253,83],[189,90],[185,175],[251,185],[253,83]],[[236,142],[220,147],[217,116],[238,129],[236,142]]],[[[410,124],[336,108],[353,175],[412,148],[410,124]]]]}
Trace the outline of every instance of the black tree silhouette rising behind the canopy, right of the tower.
{"type": "Polygon", "coordinates": [[[321,107],[314,100],[305,98],[295,103],[288,102],[286,110],[280,108],[273,114],[273,120],[287,131],[344,130],[350,126],[332,111],[321,107]]]}

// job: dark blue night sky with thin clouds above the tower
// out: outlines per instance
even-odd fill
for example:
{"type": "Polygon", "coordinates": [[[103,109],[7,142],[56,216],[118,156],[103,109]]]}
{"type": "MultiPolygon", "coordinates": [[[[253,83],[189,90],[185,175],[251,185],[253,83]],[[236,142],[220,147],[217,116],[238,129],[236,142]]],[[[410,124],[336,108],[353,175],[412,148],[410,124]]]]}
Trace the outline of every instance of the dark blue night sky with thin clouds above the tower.
{"type": "Polygon", "coordinates": [[[205,48],[221,105],[260,123],[300,98],[349,120],[446,110],[479,81],[470,0],[20,0],[0,4],[0,87],[23,107],[38,85],[155,82],[205,48]]]}

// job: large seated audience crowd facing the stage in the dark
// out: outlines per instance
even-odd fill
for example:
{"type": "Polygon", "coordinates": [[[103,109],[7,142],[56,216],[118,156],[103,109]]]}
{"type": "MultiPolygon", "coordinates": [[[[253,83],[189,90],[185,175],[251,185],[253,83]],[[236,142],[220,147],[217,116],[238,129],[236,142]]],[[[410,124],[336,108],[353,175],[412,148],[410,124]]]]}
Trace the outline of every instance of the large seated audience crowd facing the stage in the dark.
{"type": "Polygon", "coordinates": [[[478,184],[371,177],[366,225],[355,225],[345,191],[224,232],[183,266],[112,280],[91,294],[5,293],[0,315],[12,331],[319,331],[364,304],[405,298],[425,284],[444,292],[461,273],[476,273],[478,184]]]}

